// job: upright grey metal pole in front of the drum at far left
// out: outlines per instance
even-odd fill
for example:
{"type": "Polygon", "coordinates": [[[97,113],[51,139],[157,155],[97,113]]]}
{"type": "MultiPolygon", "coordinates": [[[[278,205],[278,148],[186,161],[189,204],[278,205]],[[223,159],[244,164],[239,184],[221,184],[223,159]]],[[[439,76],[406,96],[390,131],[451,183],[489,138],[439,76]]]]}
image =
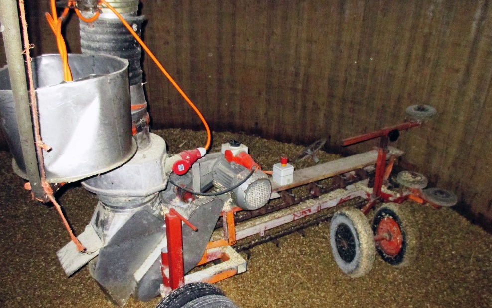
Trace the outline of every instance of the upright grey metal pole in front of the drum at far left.
{"type": "Polygon", "coordinates": [[[27,176],[34,196],[44,198],[36,157],[31,109],[25,76],[24,56],[20,37],[19,12],[16,0],[0,0],[0,24],[5,44],[10,84],[15,101],[15,116],[19,126],[20,143],[27,176]]]}

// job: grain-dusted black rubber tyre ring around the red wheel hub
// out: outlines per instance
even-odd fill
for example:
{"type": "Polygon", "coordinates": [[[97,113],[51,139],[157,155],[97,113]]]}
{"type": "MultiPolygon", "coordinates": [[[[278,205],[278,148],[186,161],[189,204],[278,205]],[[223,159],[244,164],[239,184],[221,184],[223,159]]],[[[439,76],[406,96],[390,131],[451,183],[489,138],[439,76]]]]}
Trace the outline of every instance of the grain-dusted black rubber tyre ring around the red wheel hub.
{"type": "Polygon", "coordinates": [[[382,219],[388,217],[393,219],[401,233],[402,243],[399,252],[389,255],[383,251],[379,243],[376,243],[376,250],[381,258],[394,266],[404,267],[411,264],[416,257],[417,231],[414,229],[411,213],[403,205],[396,203],[386,203],[381,206],[372,221],[373,235],[377,234],[377,228],[382,219]]]}

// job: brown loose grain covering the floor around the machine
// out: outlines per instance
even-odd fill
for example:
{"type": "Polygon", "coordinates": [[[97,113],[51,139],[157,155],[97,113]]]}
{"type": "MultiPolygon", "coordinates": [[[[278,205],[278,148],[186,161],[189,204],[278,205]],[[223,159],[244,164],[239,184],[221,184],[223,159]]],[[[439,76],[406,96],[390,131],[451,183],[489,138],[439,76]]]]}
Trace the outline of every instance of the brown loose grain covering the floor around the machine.
{"type": "MultiPolygon", "coordinates": [[[[199,146],[203,133],[164,130],[170,152],[199,146]],[[184,144],[183,144],[184,142],[184,144]]],[[[303,149],[244,134],[217,133],[214,149],[239,138],[265,169],[282,154],[303,149]]],[[[334,155],[320,154],[322,160],[334,155]]],[[[31,201],[24,181],[0,152],[0,307],[112,307],[87,267],[64,275],[56,251],[68,241],[51,206],[31,201]]],[[[306,162],[309,164],[309,162],[306,162]]],[[[97,198],[80,185],[59,197],[77,234],[97,198]]],[[[240,307],[492,307],[492,236],[451,209],[406,203],[420,232],[418,259],[398,269],[376,258],[371,273],[351,279],[336,266],[329,223],[251,249],[248,271],[218,283],[240,307]]],[[[130,299],[126,307],[155,307],[130,299]]]]}

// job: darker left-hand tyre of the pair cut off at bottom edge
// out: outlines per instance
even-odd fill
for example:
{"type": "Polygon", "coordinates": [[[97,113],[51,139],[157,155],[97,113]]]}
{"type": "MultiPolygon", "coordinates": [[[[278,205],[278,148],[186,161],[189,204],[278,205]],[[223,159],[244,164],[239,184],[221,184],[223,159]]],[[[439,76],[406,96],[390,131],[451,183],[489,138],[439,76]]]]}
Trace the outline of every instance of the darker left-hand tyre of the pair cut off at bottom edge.
{"type": "Polygon", "coordinates": [[[191,283],[173,290],[155,308],[181,308],[187,303],[207,295],[224,296],[224,293],[211,284],[191,283]]]}

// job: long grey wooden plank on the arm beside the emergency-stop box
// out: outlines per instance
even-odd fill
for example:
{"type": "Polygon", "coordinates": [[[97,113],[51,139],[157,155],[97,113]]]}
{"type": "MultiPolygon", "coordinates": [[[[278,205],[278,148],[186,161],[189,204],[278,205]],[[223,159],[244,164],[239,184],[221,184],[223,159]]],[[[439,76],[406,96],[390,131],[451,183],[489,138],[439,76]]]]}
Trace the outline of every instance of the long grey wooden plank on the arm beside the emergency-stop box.
{"type": "MultiPolygon", "coordinates": [[[[390,154],[402,156],[403,151],[389,147],[390,154]]],[[[389,156],[389,155],[388,155],[389,156]]],[[[367,167],[375,164],[377,160],[377,150],[371,150],[361,154],[355,154],[334,161],[325,162],[320,165],[312,166],[294,171],[294,180],[291,184],[279,186],[272,181],[272,191],[278,192],[300,185],[309,184],[338,174],[346,173],[352,170],[367,167]]]]}

